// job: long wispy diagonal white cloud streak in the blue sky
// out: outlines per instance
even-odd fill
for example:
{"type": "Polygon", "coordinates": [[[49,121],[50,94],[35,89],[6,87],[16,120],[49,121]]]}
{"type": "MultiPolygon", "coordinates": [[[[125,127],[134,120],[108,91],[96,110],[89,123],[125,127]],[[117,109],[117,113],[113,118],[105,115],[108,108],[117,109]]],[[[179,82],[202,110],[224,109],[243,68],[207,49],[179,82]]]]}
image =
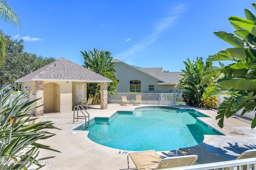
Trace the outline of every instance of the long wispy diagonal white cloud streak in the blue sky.
{"type": "Polygon", "coordinates": [[[166,29],[170,29],[170,27],[172,25],[174,25],[175,21],[178,20],[180,14],[182,14],[182,12],[186,11],[186,10],[184,10],[184,8],[185,8],[184,5],[179,5],[179,6],[172,8],[171,9],[172,13],[170,13],[166,17],[161,18],[156,23],[156,26],[154,27],[154,31],[150,35],[146,36],[144,39],[142,39],[141,43],[135,44],[129,50],[123,51],[122,53],[117,54],[116,58],[127,59],[127,57],[130,57],[139,51],[143,51],[146,47],[148,47],[149,45],[156,42],[157,39],[162,35],[162,33],[164,31],[166,31],[166,29]]]}

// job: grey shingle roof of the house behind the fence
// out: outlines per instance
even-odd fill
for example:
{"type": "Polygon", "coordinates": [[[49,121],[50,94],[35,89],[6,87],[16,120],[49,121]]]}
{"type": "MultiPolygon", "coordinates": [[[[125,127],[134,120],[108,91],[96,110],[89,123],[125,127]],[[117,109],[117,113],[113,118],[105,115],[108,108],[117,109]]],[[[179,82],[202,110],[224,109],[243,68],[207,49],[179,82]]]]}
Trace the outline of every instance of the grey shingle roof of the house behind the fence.
{"type": "MultiPolygon", "coordinates": [[[[124,63],[118,59],[113,59],[112,62],[114,63],[124,63]]],[[[124,63],[126,64],[126,63],[124,63]]],[[[127,64],[128,66],[131,66],[127,64]]],[[[133,67],[133,66],[131,66],[133,67]]],[[[135,68],[135,67],[133,67],[135,68]]],[[[183,72],[163,72],[162,67],[156,68],[136,68],[150,76],[157,78],[161,82],[158,82],[159,85],[168,85],[168,84],[178,84],[179,80],[183,77],[180,74],[184,74],[183,72]]]]}

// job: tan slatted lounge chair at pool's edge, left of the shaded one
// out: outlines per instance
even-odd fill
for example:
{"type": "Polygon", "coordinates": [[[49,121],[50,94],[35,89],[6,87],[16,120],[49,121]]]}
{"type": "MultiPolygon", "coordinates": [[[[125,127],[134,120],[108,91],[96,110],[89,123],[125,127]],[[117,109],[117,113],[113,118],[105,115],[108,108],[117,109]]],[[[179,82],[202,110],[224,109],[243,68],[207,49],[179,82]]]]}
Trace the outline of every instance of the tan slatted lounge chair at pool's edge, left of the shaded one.
{"type": "Polygon", "coordinates": [[[162,159],[155,150],[146,150],[139,152],[130,152],[127,155],[128,170],[130,170],[129,156],[132,158],[138,170],[154,170],[164,168],[175,168],[180,166],[193,165],[196,160],[196,155],[190,156],[174,156],[162,159]]]}

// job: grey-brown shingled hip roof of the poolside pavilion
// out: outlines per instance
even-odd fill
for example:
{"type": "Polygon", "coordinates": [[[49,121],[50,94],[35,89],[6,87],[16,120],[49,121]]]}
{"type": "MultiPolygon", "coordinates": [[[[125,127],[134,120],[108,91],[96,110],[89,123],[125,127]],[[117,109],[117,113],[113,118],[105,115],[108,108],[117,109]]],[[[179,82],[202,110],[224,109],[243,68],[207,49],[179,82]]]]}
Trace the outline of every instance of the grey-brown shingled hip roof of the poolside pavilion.
{"type": "Polygon", "coordinates": [[[76,81],[76,82],[112,82],[112,80],[101,76],[83,66],[80,66],[64,57],[19,78],[15,82],[26,81],[76,81]]]}

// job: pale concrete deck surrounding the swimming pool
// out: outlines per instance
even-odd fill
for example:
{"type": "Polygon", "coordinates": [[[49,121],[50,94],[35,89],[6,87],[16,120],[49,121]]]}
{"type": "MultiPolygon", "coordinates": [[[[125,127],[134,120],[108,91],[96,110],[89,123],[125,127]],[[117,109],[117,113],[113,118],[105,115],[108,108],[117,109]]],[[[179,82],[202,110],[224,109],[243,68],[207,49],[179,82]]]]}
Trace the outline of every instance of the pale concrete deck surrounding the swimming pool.
{"type": "MultiPolygon", "coordinates": [[[[142,106],[154,106],[145,105],[142,106]]],[[[108,104],[108,109],[101,110],[100,105],[88,109],[90,119],[93,117],[110,117],[116,111],[132,111],[140,105],[108,104]]],[[[176,106],[179,108],[194,108],[189,106],[176,106]]],[[[210,117],[200,117],[202,121],[214,127],[223,135],[205,135],[204,142],[200,146],[211,152],[218,153],[227,158],[236,158],[238,154],[248,149],[256,149],[256,129],[250,128],[250,121],[239,117],[230,117],[224,120],[224,128],[218,127],[218,120],[215,119],[217,111],[210,109],[196,108],[210,117]]],[[[62,130],[49,129],[49,132],[56,135],[39,143],[50,146],[59,152],[40,150],[40,157],[56,156],[46,162],[42,170],[63,170],[71,168],[73,170],[127,170],[127,155],[119,152],[127,150],[113,149],[94,143],[88,139],[88,131],[77,131],[74,128],[81,125],[82,121],[73,123],[72,113],[49,113],[39,117],[37,121],[52,121],[55,127],[62,130]]],[[[168,139],[166,139],[168,140],[168,139]]],[[[158,152],[160,156],[172,155],[171,151],[158,152]]],[[[136,169],[132,161],[130,167],[136,169]]]]}

